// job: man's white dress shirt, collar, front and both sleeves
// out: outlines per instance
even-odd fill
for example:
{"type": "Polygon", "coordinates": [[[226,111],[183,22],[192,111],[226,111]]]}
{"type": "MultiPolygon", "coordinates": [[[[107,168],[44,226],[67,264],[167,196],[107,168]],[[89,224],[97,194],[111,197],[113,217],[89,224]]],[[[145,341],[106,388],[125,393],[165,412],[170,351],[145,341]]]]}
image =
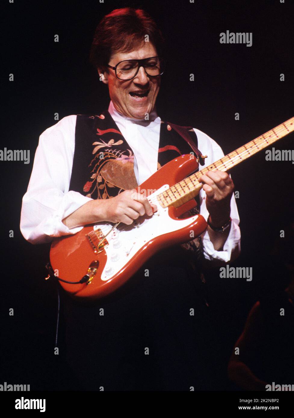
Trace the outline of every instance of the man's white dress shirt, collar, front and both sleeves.
{"type": "MultiPolygon", "coordinates": [[[[134,154],[134,171],[138,184],[157,171],[159,132],[161,119],[156,110],[149,120],[132,119],[117,112],[110,102],[110,115],[134,154]]],[[[39,137],[28,190],[23,196],[20,231],[33,244],[50,242],[54,237],[79,232],[83,227],[69,229],[62,219],[92,200],[77,191],[69,191],[75,146],[77,115],[62,118],[46,129],[39,137]]],[[[193,128],[198,138],[198,148],[207,155],[205,166],[224,156],[222,149],[205,133],[193,128]]],[[[200,166],[200,169],[205,166],[200,166]]],[[[205,191],[201,190],[200,214],[207,219],[205,191]]],[[[231,254],[240,252],[239,215],[234,195],[231,199],[232,225],[222,251],[216,251],[207,231],[201,237],[207,260],[230,261],[231,254]]]]}

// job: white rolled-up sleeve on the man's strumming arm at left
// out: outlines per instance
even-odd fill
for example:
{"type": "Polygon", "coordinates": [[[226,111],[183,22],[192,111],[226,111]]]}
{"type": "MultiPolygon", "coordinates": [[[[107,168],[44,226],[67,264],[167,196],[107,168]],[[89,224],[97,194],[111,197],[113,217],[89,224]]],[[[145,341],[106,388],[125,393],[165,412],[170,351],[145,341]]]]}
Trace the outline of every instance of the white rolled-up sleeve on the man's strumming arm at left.
{"type": "Polygon", "coordinates": [[[20,231],[33,244],[75,234],[83,228],[69,229],[62,222],[62,219],[92,200],[76,191],[69,191],[76,117],[64,117],[39,137],[20,214],[20,231]]]}

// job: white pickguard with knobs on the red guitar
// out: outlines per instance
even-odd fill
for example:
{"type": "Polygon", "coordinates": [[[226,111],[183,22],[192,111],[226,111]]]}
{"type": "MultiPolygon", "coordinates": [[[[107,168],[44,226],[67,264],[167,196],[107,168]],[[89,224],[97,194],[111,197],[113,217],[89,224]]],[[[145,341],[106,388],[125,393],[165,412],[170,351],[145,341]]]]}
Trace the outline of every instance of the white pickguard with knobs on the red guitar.
{"type": "MultiPolygon", "coordinates": [[[[156,196],[169,189],[169,185],[164,185],[155,193],[148,196],[148,200],[156,201],[156,196]]],[[[107,262],[101,275],[101,280],[109,280],[118,271],[120,271],[130,259],[147,242],[155,237],[177,231],[194,222],[198,215],[188,219],[175,220],[169,217],[169,209],[163,208],[157,202],[157,212],[151,218],[135,220],[131,225],[120,224],[109,235],[107,235],[108,244],[105,247],[107,262]]],[[[94,229],[102,229],[104,235],[113,227],[110,223],[100,223],[94,226],[94,229]]]]}

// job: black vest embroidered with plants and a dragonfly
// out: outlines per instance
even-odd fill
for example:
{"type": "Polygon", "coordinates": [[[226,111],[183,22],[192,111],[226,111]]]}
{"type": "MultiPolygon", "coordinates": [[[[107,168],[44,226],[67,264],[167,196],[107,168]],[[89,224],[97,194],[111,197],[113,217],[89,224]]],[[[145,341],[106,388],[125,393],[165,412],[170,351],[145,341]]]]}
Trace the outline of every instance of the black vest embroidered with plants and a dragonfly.
{"type": "MultiPolygon", "coordinates": [[[[161,121],[159,136],[158,169],[182,154],[198,152],[197,135],[192,127],[179,127],[161,121]],[[171,125],[174,127],[172,128],[171,125]],[[189,133],[189,143],[178,133],[184,128],[189,133]],[[191,144],[192,143],[192,147],[191,144]]],[[[77,115],[75,130],[74,160],[69,190],[77,191],[92,199],[109,199],[121,191],[138,186],[134,173],[134,155],[110,113],[100,115],[77,115]]],[[[197,207],[192,214],[199,213],[197,207]]],[[[195,239],[181,245],[200,277],[202,259],[201,240],[195,239]]]]}

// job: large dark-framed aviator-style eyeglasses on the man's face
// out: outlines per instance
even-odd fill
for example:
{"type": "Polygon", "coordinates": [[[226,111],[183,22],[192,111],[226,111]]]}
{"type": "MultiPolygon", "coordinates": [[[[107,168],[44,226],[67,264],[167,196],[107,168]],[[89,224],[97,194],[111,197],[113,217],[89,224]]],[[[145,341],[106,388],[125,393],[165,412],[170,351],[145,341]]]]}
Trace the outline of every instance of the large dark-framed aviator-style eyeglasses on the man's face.
{"type": "Polygon", "coordinates": [[[115,67],[107,64],[107,67],[115,70],[115,75],[120,80],[131,80],[139,71],[140,67],[144,67],[146,74],[150,77],[158,77],[164,73],[165,61],[159,56],[152,56],[144,59],[126,59],[120,61],[115,67]]]}

